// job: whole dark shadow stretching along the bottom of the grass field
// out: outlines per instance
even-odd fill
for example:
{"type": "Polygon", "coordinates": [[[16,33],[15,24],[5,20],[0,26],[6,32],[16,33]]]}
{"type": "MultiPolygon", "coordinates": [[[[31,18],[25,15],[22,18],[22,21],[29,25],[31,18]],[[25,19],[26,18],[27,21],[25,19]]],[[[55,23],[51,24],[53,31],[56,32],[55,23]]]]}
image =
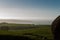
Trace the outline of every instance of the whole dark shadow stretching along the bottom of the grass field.
{"type": "Polygon", "coordinates": [[[0,40],[52,40],[38,34],[24,33],[22,36],[18,35],[0,35],[0,40]]]}

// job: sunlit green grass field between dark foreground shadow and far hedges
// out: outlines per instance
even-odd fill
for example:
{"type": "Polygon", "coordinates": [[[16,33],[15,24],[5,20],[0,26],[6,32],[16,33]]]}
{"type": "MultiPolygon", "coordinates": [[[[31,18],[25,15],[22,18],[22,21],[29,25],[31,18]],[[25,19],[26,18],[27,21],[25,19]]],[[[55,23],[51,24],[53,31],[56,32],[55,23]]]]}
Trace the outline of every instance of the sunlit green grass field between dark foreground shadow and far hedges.
{"type": "MultiPolygon", "coordinates": [[[[5,24],[5,25],[7,25],[7,24],[5,24]]],[[[12,24],[9,24],[9,26],[10,25],[12,25],[12,24]]],[[[15,25],[15,26],[17,26],[17,25],[15,25]]],[[[24,26],[26,26],[26,25],[24,25],[24,26]]],[[[21,29],[21,30],[8,30],[8,31],[7,30],[0,30],[0,35],[18,35],[18,36],[21,36],[21,35],[27,34],[30,37],[32,37],[32,35],[39,35],[39,36],[47,37],[48,39],[53,39],[50,25],[37,25],[37,26],[36,26],[36,28],[21,29]]]]}

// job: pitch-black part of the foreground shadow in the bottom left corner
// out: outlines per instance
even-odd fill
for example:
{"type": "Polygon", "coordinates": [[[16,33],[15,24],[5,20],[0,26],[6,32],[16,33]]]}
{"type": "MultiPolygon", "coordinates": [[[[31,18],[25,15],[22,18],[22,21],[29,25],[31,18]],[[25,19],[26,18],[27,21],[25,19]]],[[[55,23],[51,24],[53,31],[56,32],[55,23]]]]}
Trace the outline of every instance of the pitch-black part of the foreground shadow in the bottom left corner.
{"type": "Polygon", "coordinates": [[[26,36],[0,35],[0,40],[34,40],[26,36]]]}

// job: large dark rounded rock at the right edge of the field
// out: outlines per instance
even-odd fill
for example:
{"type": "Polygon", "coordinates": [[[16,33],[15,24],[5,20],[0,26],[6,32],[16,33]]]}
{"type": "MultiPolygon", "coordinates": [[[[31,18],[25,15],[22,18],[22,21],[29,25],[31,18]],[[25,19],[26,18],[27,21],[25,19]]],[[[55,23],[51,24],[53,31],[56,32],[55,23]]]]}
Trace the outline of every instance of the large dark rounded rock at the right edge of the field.
{"type": "Polygon", "coordinates": [[[60,16],[52,22],[52,33],[54,40],[60,40],[60,16]]]}

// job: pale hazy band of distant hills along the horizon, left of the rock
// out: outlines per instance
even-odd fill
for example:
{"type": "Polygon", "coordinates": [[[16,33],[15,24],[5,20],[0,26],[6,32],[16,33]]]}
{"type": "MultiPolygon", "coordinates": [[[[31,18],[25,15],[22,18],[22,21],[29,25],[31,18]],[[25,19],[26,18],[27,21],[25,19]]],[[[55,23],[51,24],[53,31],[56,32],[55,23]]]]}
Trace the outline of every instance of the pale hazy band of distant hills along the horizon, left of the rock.
{"type": "Polygon", "coordinates": [[[51,25],[52,20],[18,20],[18,19],[0,19],[0,23],[16,23],[16,24],[35,24],[35,25],[51,25]]]}

